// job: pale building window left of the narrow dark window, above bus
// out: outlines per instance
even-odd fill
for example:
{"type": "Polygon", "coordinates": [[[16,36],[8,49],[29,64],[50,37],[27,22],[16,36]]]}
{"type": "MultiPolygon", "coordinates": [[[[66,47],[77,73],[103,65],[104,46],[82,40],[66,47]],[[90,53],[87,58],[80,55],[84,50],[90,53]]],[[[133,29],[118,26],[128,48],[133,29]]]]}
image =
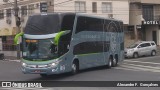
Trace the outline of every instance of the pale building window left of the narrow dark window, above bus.
{"type": "Polygon", "coordinates": [[[86,2],[76,1],[75,2],[75,11],[76,12],[86,12],[86,2]]]}

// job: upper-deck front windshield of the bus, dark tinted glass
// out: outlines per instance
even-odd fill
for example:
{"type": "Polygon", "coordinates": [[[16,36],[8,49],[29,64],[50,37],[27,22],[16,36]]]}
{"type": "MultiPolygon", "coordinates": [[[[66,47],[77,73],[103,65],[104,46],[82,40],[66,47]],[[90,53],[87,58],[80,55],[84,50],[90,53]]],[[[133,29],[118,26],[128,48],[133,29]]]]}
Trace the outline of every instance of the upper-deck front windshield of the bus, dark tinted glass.
{"type": "Polygon", "coordinates": [[[60,19],[58,15],[36,15],[30,16],[26,27],[25,34],[44,35],[57,33],[60,30],[60,19]]]}

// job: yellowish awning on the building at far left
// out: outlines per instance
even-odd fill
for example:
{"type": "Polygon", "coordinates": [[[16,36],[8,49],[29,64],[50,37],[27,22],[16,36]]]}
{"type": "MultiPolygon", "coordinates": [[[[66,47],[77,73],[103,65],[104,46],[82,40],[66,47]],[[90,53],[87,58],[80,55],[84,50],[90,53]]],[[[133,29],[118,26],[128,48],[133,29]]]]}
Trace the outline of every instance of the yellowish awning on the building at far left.
{"type": "Polygon", "coordinates": [[[16,35],[19,33],[20,30],[18,28],[13,27],[11,29],[9,28],[0,28],[0,36],[11,36],[11,35],[16,35]]]}

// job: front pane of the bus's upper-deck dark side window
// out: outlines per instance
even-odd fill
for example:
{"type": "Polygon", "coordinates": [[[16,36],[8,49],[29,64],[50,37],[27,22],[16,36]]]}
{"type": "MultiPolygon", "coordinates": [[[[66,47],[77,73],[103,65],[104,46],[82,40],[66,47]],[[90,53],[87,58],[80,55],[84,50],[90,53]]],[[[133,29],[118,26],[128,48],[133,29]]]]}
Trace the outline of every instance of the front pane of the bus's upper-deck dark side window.
{"type": "Polygon", "coordinates": [[[81,31],[103,31],[103,19],[78,17],[76,33],[81,31]]]}

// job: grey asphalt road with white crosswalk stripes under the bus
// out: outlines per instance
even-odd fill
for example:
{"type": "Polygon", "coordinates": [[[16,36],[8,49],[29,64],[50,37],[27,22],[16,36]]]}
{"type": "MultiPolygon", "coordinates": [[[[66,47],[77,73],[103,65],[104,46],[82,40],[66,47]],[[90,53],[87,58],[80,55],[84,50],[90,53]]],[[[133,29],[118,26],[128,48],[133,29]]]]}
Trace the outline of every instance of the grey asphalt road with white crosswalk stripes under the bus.
{"type": "MultiPolygon", "coordinates": [[[[70,74],[51,75],[41,78],[35,74],[23,74],[18,61],[0,61],[0,81],[160,81],[160,56],[125,59],[118,67],[106,69],[97,67],[70,74]]],[[[81,87],[76,90],[136,90],[136,88],[81,87]]],[[[141,88],[138,90],[159,90],[159,88],[141,88]]],[[[1,89],[2,90],[2,89],[1,89]]],[[[17,89],[15,89],[17,90],[17,89]]],[[[50,88],[43,90],[75,90],[75,88],[50,88]]]]}

